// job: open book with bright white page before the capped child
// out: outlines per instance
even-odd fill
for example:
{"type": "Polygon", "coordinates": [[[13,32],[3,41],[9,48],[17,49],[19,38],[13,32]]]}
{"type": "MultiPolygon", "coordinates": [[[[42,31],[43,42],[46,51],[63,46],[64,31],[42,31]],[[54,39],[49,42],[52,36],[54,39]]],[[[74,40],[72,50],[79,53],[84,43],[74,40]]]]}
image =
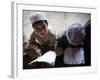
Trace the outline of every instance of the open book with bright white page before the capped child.
{"type": "Polygon", "coordinates": [[[51,68],[55,64],[56,53],[54,51],[48,51],[41,57],[31,61],[28,65],[32,68],[51,68]]]}

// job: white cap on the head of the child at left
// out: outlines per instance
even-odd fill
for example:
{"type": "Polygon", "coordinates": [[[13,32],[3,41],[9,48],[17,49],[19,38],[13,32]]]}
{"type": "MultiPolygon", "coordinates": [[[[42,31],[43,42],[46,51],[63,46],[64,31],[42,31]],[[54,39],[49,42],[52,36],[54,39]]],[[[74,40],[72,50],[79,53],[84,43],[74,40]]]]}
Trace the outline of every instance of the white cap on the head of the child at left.
{"type": "Polygon", "coordinates": [[[43,13],[43,12],[35,12],[30,17],[30,21],[31,21],[32,24],[34,24],[35,22],[41,21],[41,20],[46,20],[47,21],[46,14],[43,13]]]}

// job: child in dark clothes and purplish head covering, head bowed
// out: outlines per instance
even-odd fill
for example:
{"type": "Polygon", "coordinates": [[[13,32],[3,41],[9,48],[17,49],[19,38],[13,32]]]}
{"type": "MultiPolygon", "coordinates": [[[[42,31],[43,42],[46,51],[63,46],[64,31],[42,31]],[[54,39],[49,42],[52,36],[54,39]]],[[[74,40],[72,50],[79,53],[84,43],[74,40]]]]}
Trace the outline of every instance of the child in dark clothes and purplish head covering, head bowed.
{"type": "Polygon", "coordinates": [[[55,67],[72,67],[84,64],[84,38],[84,28],[78,23],[72,24],[68,30],[59,35],[57,53],[62,54],[57,56],[55,67]]]}

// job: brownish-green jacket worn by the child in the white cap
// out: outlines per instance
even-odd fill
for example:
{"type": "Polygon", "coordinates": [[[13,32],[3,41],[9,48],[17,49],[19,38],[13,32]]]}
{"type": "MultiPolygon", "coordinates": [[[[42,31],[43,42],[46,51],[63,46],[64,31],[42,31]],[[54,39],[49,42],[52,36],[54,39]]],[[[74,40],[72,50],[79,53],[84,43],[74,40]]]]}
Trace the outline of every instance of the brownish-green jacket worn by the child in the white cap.
{"type": "MultiPolygon", "coordinates": [[[[43,39],[34,31],[30,36],[28,48],[32,49],[33,53],[42,55],[49,50],[55,50],[55,42],[56,37],[50,31],[48,31],[47,36],[43,39]]],[[[31,56],[34,56],[34,54],[31,54],[31,56]]]]}

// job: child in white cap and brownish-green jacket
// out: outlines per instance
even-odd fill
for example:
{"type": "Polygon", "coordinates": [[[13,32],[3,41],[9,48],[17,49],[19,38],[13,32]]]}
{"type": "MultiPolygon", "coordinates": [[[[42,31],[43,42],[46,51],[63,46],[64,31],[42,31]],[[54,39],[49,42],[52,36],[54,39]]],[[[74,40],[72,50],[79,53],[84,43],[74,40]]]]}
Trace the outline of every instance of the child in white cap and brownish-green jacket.
{"type": "Polygon", "coordinates": [[[54,50],[56,38],[54,34],[48,30],[48,21],[45,13],[34,13],[34,15],[30,17],[30,21],[34,31],[30,36],[26,52],[31,49],[33,52],[29,52],[27,55],[34,60],[47,51],[54,50]]]}

